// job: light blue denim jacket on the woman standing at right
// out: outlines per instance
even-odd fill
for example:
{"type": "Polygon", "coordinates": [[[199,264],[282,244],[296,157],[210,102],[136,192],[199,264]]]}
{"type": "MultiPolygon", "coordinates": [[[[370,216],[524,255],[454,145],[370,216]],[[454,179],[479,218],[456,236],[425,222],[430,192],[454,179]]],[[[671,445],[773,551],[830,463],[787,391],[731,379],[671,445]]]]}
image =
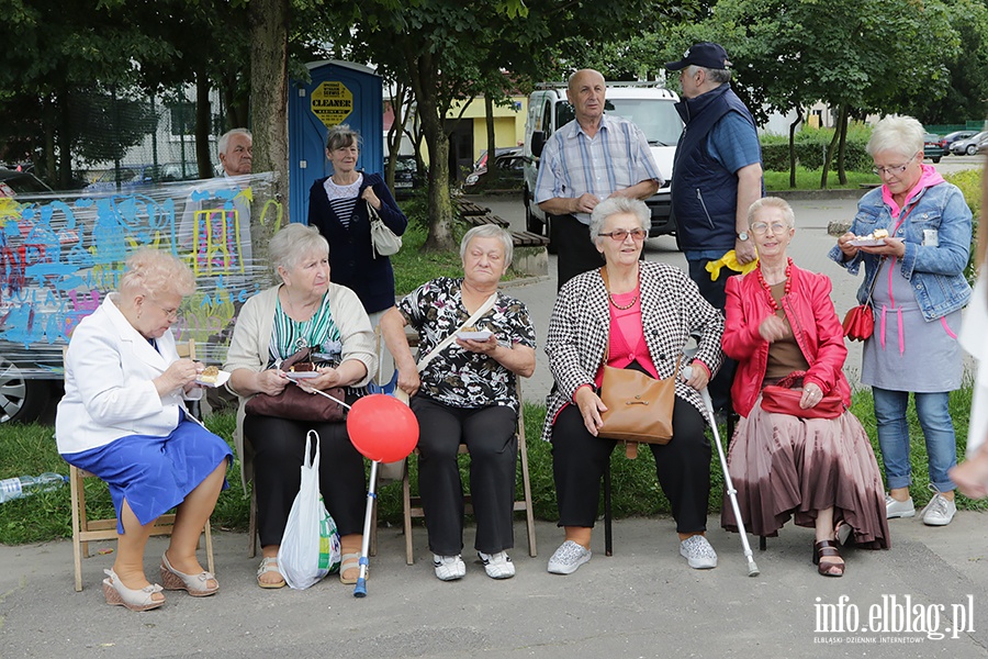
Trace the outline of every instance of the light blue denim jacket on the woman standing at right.
{"type": "MultiPolygon", "coordinates": [[[[910,201],[912,211],[896,234],[906,242],[906,256],[898,263],[899,272],[912,286],[916,301],[929,322],[963,309],[970,299],[970,286],[964,277],[970,253],[970,209],[959,188],[946,182],[924,188],[910,201]],[[930,239],[938,244],[930,245],[930,239]]],[[[891,210],[882,200],[882,188],[861,198],[851,224],[852,233],[864,236],[885,228],[891,234],[894,226],[891,210]]],[[[857,275],[864,261],[865,277],[857,289],[857,301],[864,304],[878,275],[879,257],[858,252],[854,258],[844,260],[844,253],[837,245],[828,256],[852,275],[857,275]]]]}

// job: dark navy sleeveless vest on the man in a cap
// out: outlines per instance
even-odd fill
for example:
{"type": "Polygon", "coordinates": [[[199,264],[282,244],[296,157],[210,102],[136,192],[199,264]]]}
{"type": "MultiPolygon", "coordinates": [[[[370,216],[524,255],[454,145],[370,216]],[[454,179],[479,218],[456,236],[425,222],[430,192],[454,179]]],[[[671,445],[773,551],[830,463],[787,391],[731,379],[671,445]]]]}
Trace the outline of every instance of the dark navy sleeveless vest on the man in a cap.
{"type": "MultiPolygon", "coordinates": [[[[686,127],[676,145],[672,212],[681,249],[734,248],[738,177],[707,152],[707,136],[728,112],[738,112],[752,129],[754,119],[725,82],[695,99],[676,103],[686,127]]],[[[761,159],[761,152],[759,155],[761,159]]]]}

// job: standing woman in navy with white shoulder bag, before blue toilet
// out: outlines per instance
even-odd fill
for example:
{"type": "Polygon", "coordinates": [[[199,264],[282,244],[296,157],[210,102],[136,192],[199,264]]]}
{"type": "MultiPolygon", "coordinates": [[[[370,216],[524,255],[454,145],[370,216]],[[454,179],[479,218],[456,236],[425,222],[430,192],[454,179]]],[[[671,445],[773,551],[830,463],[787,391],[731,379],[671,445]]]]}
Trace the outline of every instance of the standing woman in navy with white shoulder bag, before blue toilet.
{"type": "Polygon", "coordinates": [[[394,306],[394,271],[386,256],[371,244],[368,205],[397,235],[405,233],[408,219],[402,213],[380,174],[357,169],[360,135],[346,124],[329,130],[326,157],[333,176],[321,178],[308,192],[308,224],[317,226],[329,242],[333,282],[360,298],[377,325],[380,315],[394,306]]]}

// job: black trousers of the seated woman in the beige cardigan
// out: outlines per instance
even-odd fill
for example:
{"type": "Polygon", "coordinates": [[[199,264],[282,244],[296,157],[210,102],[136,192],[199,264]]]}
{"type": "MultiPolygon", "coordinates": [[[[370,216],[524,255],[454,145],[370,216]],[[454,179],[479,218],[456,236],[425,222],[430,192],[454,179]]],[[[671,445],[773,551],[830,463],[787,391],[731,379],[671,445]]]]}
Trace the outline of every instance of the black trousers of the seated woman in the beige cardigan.
{"type": "MultiPolygon", "coordinates": [[[[254,447],[254,490],[261,547],[280,545],[302,483],[305,434],[319,434],[319,492],[339,535],[363,533],[367,480],[346,423],[316,423],[249,415],[244,435],[254,447]]],[[[315,449],[313,449],[315,453],[315,449]]]]}

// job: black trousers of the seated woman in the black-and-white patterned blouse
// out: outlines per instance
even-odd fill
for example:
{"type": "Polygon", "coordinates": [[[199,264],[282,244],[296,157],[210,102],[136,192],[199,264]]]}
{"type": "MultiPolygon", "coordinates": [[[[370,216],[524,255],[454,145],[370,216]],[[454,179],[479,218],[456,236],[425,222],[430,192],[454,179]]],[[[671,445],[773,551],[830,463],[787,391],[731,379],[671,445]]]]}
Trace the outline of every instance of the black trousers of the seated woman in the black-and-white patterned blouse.
{"type": "Polygon", "coordinates": [[[429,549],[439,556],[463,550],[463,484],[457,451],[470,451],[470,495],[476,517],[474,547],[496,554],[515,545],[517,413],[510,407],[451,407],[426,396],[412,399],[418,418],[418,493],[429,530],[429,549]]]}

